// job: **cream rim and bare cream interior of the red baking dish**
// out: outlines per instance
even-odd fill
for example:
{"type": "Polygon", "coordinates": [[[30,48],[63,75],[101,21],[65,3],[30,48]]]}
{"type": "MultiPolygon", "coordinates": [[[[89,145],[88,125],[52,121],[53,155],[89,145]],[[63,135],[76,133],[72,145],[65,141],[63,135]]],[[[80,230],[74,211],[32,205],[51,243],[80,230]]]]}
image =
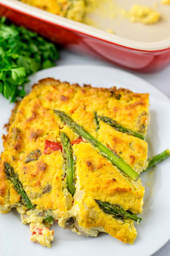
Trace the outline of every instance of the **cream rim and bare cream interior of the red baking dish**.
{"type": "MultiPolygon", "coordinates": [[[[160,2],[160,0],[158,1],[160,2]]],[[[117,3],[127,10],[132,4],[141,4],[154,8],[154,2],[153,0],[117,0],[117,3]]],[[[162,14],[163,18],[159,23],[153,25],[130,23],[127,18],[120,16],[110,19],[105,14],[100,16],[101,10],[96,10],[94,14],[90,14],[90,18],[95,20],[96,27],[98,27],[94,28],[29,6],[18,0],[0,0],[0,3],[25,14],[126,47],[149,51],[170,47],[170,5],[159,4],[158,7],[154,8],[162,14]],[[113,29],[115,34],[104,31],[107,28],[113,29]]]]}

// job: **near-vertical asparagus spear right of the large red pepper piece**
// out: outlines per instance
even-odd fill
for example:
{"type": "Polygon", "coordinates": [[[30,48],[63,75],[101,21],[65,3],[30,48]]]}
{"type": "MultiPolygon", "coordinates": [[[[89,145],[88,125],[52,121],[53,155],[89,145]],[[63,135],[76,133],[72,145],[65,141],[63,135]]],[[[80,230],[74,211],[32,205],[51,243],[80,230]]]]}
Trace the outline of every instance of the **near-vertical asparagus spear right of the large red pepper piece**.
{"type": "Polygon", "coordinates": [[[66,170],[66,178],[67,178],[67,188],[72,196],[75,194],[75,184],[74,184],[74,160],[72,155],[72,147],[70,144],[69,137],[66,133],[61,132],[60,138],[63,144],[64,152],[67,157],[67,170],[66,170]]]}

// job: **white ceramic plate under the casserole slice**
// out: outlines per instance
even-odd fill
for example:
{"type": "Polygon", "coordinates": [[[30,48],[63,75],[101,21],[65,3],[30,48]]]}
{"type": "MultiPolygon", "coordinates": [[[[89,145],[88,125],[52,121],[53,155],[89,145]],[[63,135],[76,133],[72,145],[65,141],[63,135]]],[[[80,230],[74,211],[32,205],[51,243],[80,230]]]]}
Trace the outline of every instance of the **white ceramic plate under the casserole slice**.
{"type": "MultiPolygon", "coordinates": [[[[170,147],[169,136],[169,111],[170,101],[160,91],[146,81],[127,72],[102,66],[60,66],[46,69],[31,76],[30,85],[39,79],[54,77],[61,81],[71,83],[89,84],[95,87],[125,87],[134,92],[150,93],[151,123],[148,127],[147,142],[149,144],[149,156],[158,154],[170,147]]],[[[0,134],[7,123],[13,104],[0,95],[0,134]]],[[[0,151],[2,151],[2,140],[0,151]]],[[[30,256],[30,255],[115,255],[115,256],[150,256],[159,250],[170,239],[170,159],[166,159],[154,168],[151,175],[148,172],[141,174],[143,185],[146,186],[142,221],[135,225],[138,236],[133,245],[123,244],[106,233],[100,233],[98,237],[78,236],[69,230],[63,230],[54,223],[54,241],[52,248],[48,249],[30,241],[31,232],[29,225],[22,225],[20,215],[15,209],[8,214],[0,215],[0,254],[2,256],[30,256]],[[148,182],[151,187],[146,184],[148,182]],[[152,190],[152,194],[151,194],[152,190]]]]}

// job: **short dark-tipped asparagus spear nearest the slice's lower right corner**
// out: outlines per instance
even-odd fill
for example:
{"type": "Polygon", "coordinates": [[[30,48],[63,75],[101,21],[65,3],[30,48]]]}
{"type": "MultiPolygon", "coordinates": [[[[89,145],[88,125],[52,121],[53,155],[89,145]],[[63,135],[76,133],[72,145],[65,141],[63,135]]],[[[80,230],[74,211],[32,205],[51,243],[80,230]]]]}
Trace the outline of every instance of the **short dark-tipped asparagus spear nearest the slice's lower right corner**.
{"type": "Polygon", "coordinates": [[[137,217],[133,212],[131,211],[124,211],[123,208],[120,205],[114,204],[111,205],[109,202],[102,202],[100,200],[95,199],[99,207],[107,214],[112,214],[114,218],[116,219],[131,219],[137,222],[137,224],[140,223],[142,218],[137,217]]]}

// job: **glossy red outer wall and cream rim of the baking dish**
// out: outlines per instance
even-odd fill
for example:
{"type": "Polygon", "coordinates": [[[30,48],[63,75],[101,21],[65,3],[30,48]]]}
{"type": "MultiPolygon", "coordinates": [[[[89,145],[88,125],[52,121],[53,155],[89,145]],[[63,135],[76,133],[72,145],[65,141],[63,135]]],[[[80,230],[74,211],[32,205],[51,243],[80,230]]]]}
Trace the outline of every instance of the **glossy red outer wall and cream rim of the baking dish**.
{"type": "Polygon", "coordinates": [[[0,0],[0,15],[64,47],[135,71],[156,72],[170,63],[170,37],[155,42],[129,40],[17,0],[0,0]]]}

